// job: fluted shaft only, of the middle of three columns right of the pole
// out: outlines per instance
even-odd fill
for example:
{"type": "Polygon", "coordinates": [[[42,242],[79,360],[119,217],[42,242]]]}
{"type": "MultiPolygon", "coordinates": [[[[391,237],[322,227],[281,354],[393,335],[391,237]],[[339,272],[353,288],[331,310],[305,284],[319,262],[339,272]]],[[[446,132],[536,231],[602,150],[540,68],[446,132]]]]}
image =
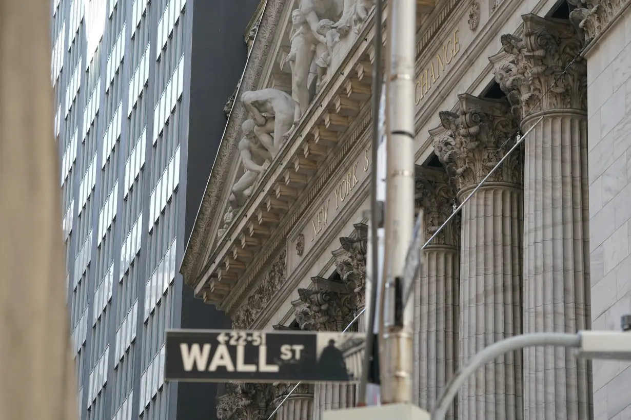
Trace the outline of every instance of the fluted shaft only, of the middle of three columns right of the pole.
{"type": "MultiPolygon", "coordinates": [[[[464,205],[460,363],[521,334],[521,190],[490,183],[464,205]]],[[[469,191],[462,191],[463,195],[469,191]]],[[[459,394],[460,419],[521,419],[521,352],[476,371],[459,394]]]]}

